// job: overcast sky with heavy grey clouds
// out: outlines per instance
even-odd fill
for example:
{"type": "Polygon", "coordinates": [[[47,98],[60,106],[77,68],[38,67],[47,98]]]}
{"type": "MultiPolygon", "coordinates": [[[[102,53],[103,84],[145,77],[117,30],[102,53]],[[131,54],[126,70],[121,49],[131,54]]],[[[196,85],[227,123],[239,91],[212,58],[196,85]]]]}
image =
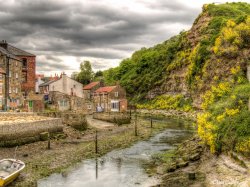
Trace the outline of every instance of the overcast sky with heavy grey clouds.
{"type": "Polygon", "coordinates": [[[84,60],[104,70],[188,30],[202,5],[212,2],[0,0],[0,40],[37,55],[37,73],[70,75],[84,60]]]}

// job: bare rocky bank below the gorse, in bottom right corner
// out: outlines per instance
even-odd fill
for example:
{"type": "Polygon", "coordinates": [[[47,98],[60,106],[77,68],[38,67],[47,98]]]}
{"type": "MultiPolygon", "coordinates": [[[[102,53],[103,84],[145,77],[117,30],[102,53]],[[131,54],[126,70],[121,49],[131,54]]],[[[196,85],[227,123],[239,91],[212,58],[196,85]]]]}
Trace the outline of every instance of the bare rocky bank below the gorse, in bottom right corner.
{"type": "Polygon", "coordinates": [[[185,141],[173,152],[155,156],[152,168],[148,172],[161,176],[162,186],[250,185],[250,162],[247,158],[235,153],[213,155],[198,137],[185,141]]]}

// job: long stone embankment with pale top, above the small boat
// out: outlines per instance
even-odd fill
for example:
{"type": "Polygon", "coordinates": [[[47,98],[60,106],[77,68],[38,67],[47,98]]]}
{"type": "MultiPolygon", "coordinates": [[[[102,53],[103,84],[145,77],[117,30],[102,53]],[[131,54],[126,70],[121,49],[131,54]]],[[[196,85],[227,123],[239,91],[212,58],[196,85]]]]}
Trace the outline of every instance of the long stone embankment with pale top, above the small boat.
{"type": "Polygon", "coordinates": [[[44,132],[62,133],[62,120],[34,113],[0,113],[0,147],[39,141],[44,132]]]}

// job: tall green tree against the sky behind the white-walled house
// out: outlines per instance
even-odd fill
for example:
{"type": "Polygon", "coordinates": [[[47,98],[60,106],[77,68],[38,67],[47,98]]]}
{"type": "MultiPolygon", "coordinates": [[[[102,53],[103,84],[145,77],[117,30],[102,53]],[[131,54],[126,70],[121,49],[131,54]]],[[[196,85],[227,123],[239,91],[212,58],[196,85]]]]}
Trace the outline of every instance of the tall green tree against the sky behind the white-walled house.
{"type": "Polygon", "coordinates": [[[93,79],[93,70],[89,61],[84,61],[80,65],[80,72],[76,76],[76,80],[82,84],[89,84],[93,79]]]}

